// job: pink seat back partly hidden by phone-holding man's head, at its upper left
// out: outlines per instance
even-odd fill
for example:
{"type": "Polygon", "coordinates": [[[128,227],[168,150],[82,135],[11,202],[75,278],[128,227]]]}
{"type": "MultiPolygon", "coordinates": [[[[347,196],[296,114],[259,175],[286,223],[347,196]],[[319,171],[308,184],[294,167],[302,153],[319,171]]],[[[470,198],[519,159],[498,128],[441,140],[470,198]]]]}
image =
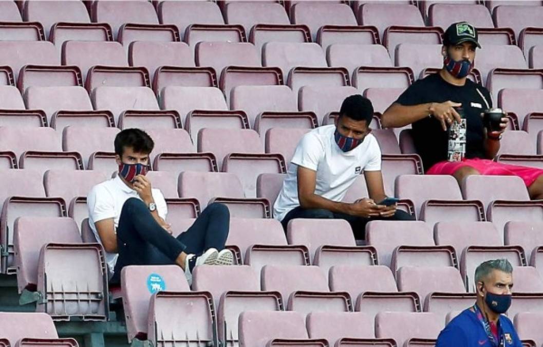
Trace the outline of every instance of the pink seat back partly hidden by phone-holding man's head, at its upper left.
{"type": "Polygon", "coordinates": [[[319,119],[319,124],[323,124],[323,119],[328,113],[339,111],[343,100],[354,94],[358,94],[358,91],[351,86],[303,86],[298,92],[298,108],[300,111],[315,112],[319,119]]]}

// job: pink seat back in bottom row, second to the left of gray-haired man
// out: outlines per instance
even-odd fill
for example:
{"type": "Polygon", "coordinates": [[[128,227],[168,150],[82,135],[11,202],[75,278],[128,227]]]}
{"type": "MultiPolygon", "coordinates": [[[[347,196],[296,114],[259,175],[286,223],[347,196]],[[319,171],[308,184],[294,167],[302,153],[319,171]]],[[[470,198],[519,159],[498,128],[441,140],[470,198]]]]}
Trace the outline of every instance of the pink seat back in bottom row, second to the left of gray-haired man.
{"type": "Polygon", "coordinates": [[[374,338],[373,319],[362,312],[312,312],[307,315],[310,338],[325,338],[333,346],[342,338],[374,338]]]}

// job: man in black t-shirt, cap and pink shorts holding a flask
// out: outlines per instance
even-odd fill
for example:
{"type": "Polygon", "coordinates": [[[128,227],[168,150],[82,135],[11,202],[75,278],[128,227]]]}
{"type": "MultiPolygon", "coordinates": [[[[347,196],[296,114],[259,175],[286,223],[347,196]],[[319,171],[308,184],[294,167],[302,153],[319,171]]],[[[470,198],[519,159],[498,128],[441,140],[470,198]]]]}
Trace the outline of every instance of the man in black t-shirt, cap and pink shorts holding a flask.
{"type": "Polygon", "coordinates": [[[477,48],[477,29],[468,22],[452,24],[443,36],[443,68],[408,87],[383,113],[381,123],[386,128],[412,124],[415,149],[427,174],[452,175],[459,183],[468,175],[515,175],[532,199],[543,199],[542,169],[493,161],[508,119],[501,118],[498,131],[483,124],[481,113],[492,108],[490,93],[468,79],[477,48]],[[458,142],[461,156],[451,156],[451,150],[457,150],[449,141],[451,125],[454,137],[458,126],[465,127],[465,140],[458,142]]]}

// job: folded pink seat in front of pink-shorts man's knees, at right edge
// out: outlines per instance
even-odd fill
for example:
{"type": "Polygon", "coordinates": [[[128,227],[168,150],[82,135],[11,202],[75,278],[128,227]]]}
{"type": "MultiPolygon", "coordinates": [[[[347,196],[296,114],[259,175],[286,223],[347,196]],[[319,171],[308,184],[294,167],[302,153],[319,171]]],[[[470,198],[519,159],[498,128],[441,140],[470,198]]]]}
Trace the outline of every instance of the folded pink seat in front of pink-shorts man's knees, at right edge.
{"type": "Polygon", "coordinates": [[[463,181],[462,193],[465,199],[482,201],[488,220],[498,231],[509,220],[538,220],[543,216],[543,205],[529,201],[526,185],[516,176],[468,176],[463,181]]]}

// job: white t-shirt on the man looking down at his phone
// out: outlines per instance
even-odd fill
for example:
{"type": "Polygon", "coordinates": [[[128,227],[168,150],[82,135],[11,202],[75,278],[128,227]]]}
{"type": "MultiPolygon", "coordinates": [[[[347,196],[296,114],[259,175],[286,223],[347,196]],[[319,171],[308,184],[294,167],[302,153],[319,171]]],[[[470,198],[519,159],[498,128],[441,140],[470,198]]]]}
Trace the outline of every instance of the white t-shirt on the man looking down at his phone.
{"type": "Polygon", "coordinates": [[[298,200],[298,166],[317,172],[315,194],[341,201],[358,175],[381,170],[381,148],[372,134],[350,152],[344,153],[334,140],[336,125],[313,129],[298,143],[288,164],[287,177],[274,204],[274,217],[282,220],[300,206],[298,200]]]}

